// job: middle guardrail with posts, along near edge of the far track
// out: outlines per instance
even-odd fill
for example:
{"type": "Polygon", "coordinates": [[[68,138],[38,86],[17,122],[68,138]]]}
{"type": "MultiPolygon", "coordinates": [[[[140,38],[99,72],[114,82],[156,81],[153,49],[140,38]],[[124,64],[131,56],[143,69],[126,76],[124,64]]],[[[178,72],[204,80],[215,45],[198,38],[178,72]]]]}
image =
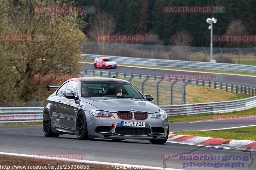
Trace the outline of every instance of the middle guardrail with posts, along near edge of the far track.
{"type": "MultiPolygon", "coordinates": [[[[81,73],[92,74],[95,76],[108,76],[108,77],[133,77],[133,78],[152,78],[152,79],[163,79],[162,76],[153,76],[153,75],[145,75],[145,74],[132,74],[132,73],[119,73],[119,72],[111,72],[111,71],[101,71],[101,70],[81,70],[81,73]]],[[[172,80],[175,80],[172,78],[172,80]]],[[[231,83],[223,83],[223,82],[215,82],[215,81],[207,81],[207,80],[196,80],[196,79],[183,79],[183,82],[189,81],[189,84],[194,85],[202,85],[211,87],[214,89],[223,90],[226,92],[234,92],[241,94],[248,94],[255,96],[256,89],[255,87],[248,87],[244,85],[236,85],[231,83]]]]}

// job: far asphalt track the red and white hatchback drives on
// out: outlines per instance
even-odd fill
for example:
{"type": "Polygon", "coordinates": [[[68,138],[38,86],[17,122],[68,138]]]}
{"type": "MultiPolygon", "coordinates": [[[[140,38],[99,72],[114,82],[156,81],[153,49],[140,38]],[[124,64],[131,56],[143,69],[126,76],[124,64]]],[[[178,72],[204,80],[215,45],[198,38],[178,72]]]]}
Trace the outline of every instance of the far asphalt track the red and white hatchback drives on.
{"type": "MultiPolygon", "coordinates": [[[[84,65],[84,69],[103,70],[101,68],[95,69],[92,63],[86,63],[84,65]]],[[[164,76],[165,74],[188,74],[188,75],[195,74],[195,72],[193,71],[178,71],[178,70],[169,70],[169,69],[153,69],[153,68],[129,67],[129,66],[118,66],[116,69],[106,69],[104,71],[145,74],[145,75],[155,75],[155,76],[164,76]]],[[[236,85],[245,85],[249,87],[256,86],[256,76],[246,76],[246,75],[240,76],[240,75],[219,74],[219,73],[210,73],[210,74],[212,74],[211,81],[225,82],[225,83],[231,83],[236,85]]]]}

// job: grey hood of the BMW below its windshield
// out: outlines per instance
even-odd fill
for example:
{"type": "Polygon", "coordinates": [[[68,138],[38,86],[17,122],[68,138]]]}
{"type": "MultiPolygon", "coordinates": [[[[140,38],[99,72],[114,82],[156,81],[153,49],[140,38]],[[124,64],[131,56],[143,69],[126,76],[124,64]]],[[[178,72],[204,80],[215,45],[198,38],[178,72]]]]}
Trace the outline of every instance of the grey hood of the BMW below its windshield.
{"type": "Polygon", "coordinates": [[[99,110],[104,110],[112,113],[119,111],[127,112],[159,112],[159,107],[149,101],[125,99],[125,98],[82,98],[84,102],[90,103],[99,110]],[[131,111],[134,109],[134,111],[131,111]]]}

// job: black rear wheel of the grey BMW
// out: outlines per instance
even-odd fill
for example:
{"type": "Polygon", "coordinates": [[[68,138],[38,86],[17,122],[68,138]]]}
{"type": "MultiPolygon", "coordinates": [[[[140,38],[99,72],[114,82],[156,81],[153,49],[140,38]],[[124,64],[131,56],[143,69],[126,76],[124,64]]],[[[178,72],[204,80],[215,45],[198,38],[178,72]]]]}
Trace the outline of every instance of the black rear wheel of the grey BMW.
{"type": "Polygon", "coordinates": [[[51,118],[48,111],[44,112],[43,115],[43,130],[44,130],[44,136],[46,137],[59,137],[59,133],[53,133],[52,132],[52,126],[51,126],[51,118]]]}

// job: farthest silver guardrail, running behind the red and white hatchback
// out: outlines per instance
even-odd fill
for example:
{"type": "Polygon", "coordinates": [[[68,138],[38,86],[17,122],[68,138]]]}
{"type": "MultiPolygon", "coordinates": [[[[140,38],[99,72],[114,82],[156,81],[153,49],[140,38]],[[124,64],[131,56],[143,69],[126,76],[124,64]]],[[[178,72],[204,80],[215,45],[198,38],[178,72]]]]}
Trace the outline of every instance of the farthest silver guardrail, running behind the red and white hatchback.
{"type": "MultiPolygon", "coordinates": [[[[82,54],[83,59],[93,61],[95,57],[104,57],[109,55],[93,55],[82,54]]],[[[256,66],[243,65],[243,64],[228,64],[228,63],[209,63],[209,62],[195,62],[195,61],[181,61],[181,60],[164,60],[164,59],[149,59],[149,58],[134,58],[111,56],[117,63],[122,64],[137,64],[137,65],[150,65],[162,67],[176,67],[186,69],[203,69],[203,70],[224,70],[224,71],[237,71],[237,72],[256,72],[256,66]]]]}

